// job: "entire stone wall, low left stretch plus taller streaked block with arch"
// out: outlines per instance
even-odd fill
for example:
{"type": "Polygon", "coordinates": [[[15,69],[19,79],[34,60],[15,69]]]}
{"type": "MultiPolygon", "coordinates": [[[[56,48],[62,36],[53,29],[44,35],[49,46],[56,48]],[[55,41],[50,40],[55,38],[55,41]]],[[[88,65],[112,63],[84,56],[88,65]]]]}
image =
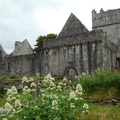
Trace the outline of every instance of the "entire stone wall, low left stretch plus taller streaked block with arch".
{"type": "Polygon", "coordinates": [[[93,30],[86,37],[46,40],[43,51],[38,54],[8,56],[0,73],[17,76],[45,76],[50,73],[72,78],[98,68],[115,69],[116,56],[116,45],[106,39],[103,31],[93,30]]]}

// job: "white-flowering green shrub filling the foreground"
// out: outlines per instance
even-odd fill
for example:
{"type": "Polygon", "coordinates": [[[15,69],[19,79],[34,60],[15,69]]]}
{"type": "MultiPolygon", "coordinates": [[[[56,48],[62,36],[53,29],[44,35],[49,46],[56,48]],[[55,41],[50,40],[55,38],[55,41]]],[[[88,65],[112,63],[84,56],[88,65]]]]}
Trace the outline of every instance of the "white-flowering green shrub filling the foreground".
{"type": "Polygon", "coordinates": [[[66,78],[56,82],[50,74],[39,86],[32,78],[23,77],[22,83],[22,94],[18,94],[15,86],[7,91],[5,107],[0,108],[2,120],[77,120],[80,113],[88,113],[80,84],[75,85],[66,78]]]}

